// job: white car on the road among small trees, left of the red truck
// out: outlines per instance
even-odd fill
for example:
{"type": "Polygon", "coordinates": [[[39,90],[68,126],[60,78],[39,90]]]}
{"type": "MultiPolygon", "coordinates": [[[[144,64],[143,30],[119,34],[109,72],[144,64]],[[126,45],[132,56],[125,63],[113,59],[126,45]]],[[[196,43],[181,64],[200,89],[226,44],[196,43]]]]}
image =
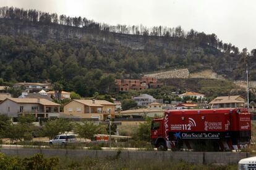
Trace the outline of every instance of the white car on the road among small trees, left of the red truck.
{"type": "Polygon", "coordinates": [[[74,143],[76,140],[74,134],[60,134],[54,137],[54,139],[49,140],[49,145],[64,145],[74,143]]]}

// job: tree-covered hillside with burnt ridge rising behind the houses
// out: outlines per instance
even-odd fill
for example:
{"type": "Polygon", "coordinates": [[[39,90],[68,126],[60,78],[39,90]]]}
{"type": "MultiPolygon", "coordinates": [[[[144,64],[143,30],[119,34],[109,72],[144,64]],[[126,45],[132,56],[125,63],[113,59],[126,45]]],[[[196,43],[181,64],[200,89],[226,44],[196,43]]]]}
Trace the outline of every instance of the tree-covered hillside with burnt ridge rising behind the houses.
{"type": "MultiPolygon", "coordinates": [[[[76,17],[35,10],[1,10],[0,75],[6,82],[59,82],[85,96],[112,91],[115,78],[174,68],[245,78],[243,54],[215,34],[186,32],[180,26],[141,26],[138,31],[138,26],[109,26],[86,18],[77,22],[76,17]]],[[[250,80],[256,80],[253,58],[249,67],[250,80]]]]}

